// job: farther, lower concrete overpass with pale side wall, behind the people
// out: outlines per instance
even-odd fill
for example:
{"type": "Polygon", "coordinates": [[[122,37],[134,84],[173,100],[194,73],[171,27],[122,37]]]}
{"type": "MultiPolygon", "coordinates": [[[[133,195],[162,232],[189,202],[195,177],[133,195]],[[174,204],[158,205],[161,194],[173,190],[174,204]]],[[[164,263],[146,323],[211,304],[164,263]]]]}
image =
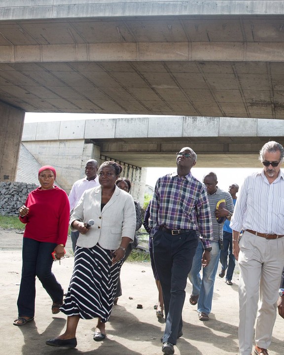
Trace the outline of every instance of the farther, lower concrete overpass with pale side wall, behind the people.
{"type": "Polygon", "coordinates": [[[183,146],[198,155],[197,167],[261,167],[264,142],[284,142],[284,120],[224,117],[137,117],[38,122],[24,126],[22,142],[41,164],[56,167],[67,191],[80,178],[89,158],[121,163],[122,176],[134,182],[143,199],[146,167],[175,167],[183,146]]]}

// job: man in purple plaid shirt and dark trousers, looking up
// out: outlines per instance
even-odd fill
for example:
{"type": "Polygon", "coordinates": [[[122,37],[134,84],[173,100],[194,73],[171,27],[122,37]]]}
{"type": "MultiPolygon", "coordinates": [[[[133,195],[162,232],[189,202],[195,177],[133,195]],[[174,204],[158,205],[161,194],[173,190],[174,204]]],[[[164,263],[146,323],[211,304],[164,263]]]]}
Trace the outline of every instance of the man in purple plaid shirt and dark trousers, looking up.
{"type": "Polygon", "coordinates": [[[149,225],[153,255],[164,296],[166,327],[164,354],[174,354],[182,336],[182,308],[187,274],[198,245],[204,238],[203,263],[210,261],[212,221],[206,187],[190,172],[197,156],[190,147],[177,153],[177,172],[158,178],[151,201],[149,225]],[[207,250],[206,250],[207,249],[207,250]]]}

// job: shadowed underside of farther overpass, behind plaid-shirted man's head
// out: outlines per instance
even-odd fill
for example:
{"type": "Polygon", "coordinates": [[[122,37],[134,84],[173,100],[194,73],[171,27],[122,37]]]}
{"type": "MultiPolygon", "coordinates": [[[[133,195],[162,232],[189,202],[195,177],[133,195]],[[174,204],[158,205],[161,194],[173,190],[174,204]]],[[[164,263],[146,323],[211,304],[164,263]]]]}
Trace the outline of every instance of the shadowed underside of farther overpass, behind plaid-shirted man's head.
{"type": "MultiPolygon", "coordinates": [[[[258,151],[270,138],[215,139],[157,139],[121,140],[106,142],[96,140],[101,146],[101,155],[140,167],[176,167],[176,155],[182,147],[189,146],[197,154],[198,168],[259,168],[258,151]],[[235,150],[235,151],[234,151],[235,150]]],[[[283,142],[283,138],[278,140],[283,142]]],[[[88,141],[90,142],[90,141],[88,141]]]]}

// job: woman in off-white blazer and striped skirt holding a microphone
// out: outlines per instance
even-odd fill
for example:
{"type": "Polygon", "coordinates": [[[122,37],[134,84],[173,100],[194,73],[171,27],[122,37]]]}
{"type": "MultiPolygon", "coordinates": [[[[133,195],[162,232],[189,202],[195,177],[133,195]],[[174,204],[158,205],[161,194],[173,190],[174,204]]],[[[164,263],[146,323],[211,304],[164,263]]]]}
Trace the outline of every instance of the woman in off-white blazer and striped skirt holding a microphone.
{"type": "Polygon", "coordinates": [[[80,318],[98,318],[93,339],[106,338],[105,323],[113,307],[121,260],[136,228],[133,198],[115,185],[121,171],[116,162],[103,163],[98,174],[101,186],[86,190],[71,215],[71,230],[80,234],[70,286],[60,308],[68,316],[67,328],[47,345],[75,348],[80,318]],[[94,224],[89,227],[90,219],[94,224]]]}

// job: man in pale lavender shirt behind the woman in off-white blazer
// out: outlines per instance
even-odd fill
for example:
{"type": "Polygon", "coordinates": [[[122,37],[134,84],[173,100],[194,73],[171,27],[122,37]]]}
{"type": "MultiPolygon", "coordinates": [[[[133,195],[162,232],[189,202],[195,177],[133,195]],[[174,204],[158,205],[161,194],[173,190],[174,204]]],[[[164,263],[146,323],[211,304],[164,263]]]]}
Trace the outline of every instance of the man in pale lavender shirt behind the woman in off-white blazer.
{"type": "MultiPolygon", "coordinates": [[[[85,166],[86,177],[79,179],[74,182],[70,194],[69,194],[69,203],[70,203],[70,212],[77,206],[83,192],[90,188],[99,186],[99,177],[97,175],[98,171],[98,162],[95,159],[90,159],[87,161],[85,166]]],[[[75,247],[77,244],[77,239],[79,237],[79,231],[71,232],[71,241],[72,249],[75,252],[75,247]]]]}

